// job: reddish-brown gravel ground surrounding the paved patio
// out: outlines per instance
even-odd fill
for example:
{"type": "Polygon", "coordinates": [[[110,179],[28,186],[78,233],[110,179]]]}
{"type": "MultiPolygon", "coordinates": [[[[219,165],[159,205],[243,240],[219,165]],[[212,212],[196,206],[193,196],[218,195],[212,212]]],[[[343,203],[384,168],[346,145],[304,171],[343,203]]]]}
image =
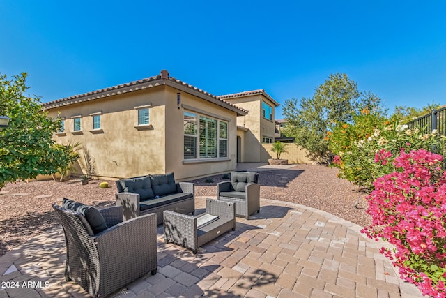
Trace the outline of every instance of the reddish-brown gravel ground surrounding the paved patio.
{"type": "MultiPolygon", "coordinates": [[[[321,165],[296,165],[288,170],[261,171],[261,198],[303,204],[327,211],[358,225],[370,225],[366,194],[344,179],[337,169],[321,165]],[[358,202],[357,207],[355,204],[358,202]]],[[[223,175],[193,180],[197,196],[215,197],[215,184],[223,175]],[[212,182],[209,182],[212,181],[212,182]]],[[[102,181],[82,186],[78,179],[66,182],[31,181],[7,184],[0,192],[0,256],[40,232],[58,224],[51,204],[72,198],[84,204],[107,207],[114,204],[116,186],[99,188],[102,181]]]]}

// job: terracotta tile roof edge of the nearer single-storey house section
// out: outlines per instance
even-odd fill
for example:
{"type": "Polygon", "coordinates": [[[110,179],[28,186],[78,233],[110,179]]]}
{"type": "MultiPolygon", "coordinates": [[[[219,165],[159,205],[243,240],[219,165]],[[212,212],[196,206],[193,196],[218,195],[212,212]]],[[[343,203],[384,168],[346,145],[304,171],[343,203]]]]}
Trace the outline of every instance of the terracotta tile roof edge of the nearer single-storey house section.
{"type": "Polygon", "coordinates": [[[190,92],[196,96],[199,96],[205,100],[216,103],[217,105],[221,105],[222,107],[226,107],[229,110],[233,110],[237,112],[237,114],[245,115],[247,114],[247,110],[233,105],[232,103],[228,103],[223,98],[218,98],[213,94],[210,94],[202,89],[192,86],[191,84],[187,84],[186,82],[180,81],[175,77],[169,77],[169,73],[167,70],[162,70],[160,75],[156,75],[154,77],[148,77],[142,80],[136,80],[133,82],[128,82],[125,84],[119,84],[113,87],[107,87],[104,89],[99,89],[91,92],[87,92],[84,94],[78,94],[75,96],[70,96],[66,98],[61,98],[58,100],[50,101],[49,103],[43,103],[43,110],[49,110],[54,107],[61,107],[64,105],[72,105],[75,103],[81,103],[84,101],[95,100],[98,98],[105,98],[109,96],[114,96],[118,94],[125,94],[132,91],[138,91],[142,89],[147,89],[155,86],[161,85],[169,85],[170,87],[180,89],[180,91],[190,92]],[[164,73],[163,73],[164,72],[164,73]]]}

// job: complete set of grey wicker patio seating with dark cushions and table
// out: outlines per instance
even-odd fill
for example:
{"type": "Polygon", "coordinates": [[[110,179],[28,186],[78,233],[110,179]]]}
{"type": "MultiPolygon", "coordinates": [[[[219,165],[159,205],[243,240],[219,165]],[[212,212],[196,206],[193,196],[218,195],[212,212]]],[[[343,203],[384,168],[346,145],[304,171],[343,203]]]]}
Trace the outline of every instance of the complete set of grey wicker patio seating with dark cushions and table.
{"type": "Polygon", "coordinates": [[[194,216],[194,184],[175,183],[174,174],[116,181],[116,206],[104,209],[63,199],[53,204],[66,239],[66,281],[93,297],[105,297],[139,276],[157,271],[157,225],[164,239],[197,253],[199,246],[235,230],[235,216],[260,210],[259,174],[231,172],[217,184],[217,200],[194,216]],[[192,215],[187,215],[192,214],[192,215]]]}

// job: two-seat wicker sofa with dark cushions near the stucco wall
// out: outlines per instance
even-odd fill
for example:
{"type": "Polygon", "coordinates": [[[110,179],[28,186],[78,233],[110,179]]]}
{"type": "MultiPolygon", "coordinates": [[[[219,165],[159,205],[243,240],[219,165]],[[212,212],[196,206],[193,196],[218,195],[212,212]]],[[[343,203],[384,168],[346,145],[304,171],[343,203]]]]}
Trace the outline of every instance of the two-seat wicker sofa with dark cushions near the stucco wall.
{"type": "Polygon", "coordinates": [[[116,181],[116,188],[116,205],[123,207],[125,221],[155,213],[157,225],[160,225],[164,210],[194,214],[194,184],[176,183],[174,173],[120,179],[116,181]]]}

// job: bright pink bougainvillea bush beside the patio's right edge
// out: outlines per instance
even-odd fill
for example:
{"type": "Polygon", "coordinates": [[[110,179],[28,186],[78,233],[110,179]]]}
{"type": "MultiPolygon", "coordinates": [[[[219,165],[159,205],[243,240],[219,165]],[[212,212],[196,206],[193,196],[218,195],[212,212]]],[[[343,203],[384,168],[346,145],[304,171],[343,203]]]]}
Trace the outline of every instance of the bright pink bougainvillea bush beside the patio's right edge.
{"type": "MultiPolygon", "coordinates": [[[[392,158],[381,150],[375,162],[392,158]]],[[[367,197],[373,223],[362,230],[371,239],[383,239],[394,249],[380,252],[399,267],[401,278],[424,295],[446,297],[446,172],[443,156],[424,149],[394,159],[397,171],[376,179],[367,197]]]]}

